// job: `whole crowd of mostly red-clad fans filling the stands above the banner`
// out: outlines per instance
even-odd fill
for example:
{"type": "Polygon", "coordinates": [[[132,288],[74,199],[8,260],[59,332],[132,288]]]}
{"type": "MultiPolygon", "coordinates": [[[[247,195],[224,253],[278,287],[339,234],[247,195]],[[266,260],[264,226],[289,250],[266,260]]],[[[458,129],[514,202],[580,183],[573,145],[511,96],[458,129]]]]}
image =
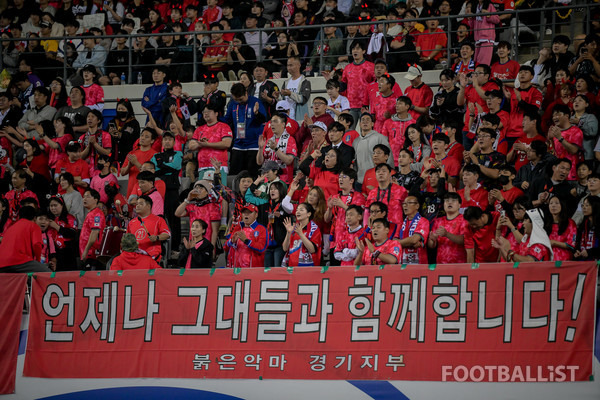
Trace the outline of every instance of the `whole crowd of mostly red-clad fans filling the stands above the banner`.
{"type": "Polygon", "coordinates": [[[40,42],[2,42],[0,271],[211,267],[222,253],[229,267],[600,259],[597,19],[519,64],[511,32],[526,21],[488,15],[504,11],[488,0],[12,3],[3,38],[40,42]],[[102,29],[43,39],[93,14],[102,29]],[[134,19],[174,34],[95,37],[134,19]],[[328,22],[350,24],[317,38],[310,25],[328,22]],[[202,94],[181,83],[193,41],[202,94]],[[138,82],[152,82],[145,125],[127,98],[102,113],[130,45],[138,82]],[[440,68],[439,88],[424,68],[440,68]],[[313,70],[326,95],[312,94],[313,70]],[[229,96],[222,79],[236,81],[229,96]]]}

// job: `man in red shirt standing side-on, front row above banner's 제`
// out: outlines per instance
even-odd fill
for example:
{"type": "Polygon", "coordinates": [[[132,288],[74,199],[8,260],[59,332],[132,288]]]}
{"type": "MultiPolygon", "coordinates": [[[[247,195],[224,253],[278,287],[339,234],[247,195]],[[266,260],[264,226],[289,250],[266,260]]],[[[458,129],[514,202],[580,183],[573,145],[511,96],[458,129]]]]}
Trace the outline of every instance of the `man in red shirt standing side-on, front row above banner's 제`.
{"type": "Polygon", "coordinates": [[[96,251],[102,244],[102,234],[106,226],[104,213],[98,208],[100,193],[87,189],[83,194],[83,207],[87,215],[79,234],[79,256],[86,269],[96,270],[100,263],[96,259],[96,251]]]}

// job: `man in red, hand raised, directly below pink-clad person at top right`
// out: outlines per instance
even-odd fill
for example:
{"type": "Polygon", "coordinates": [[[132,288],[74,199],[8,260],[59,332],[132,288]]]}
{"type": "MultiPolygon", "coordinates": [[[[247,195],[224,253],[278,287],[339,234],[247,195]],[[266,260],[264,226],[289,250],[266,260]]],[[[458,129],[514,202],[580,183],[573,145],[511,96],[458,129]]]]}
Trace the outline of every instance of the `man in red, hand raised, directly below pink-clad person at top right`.
{"type": "Polygon", "coordinates": [[[465,113],[465,126],[463,132],[466,132],[466,142],[463,141],[465,149],[469,150],[473,146],[475,132],[469,133],[469,120],[477,117],[481,112],[489,112],[486,104],[486,92],[490,90],[499,90],[498,85],[490,81],[491,69],[489,65],[480,64],[475,67],[475,71],[469,74],[459,74],[460,90],[456,98],[456,104],[459,106],[467,105],[469,112],[465,113]],[[472,77],[472,78],[471,78],[472,77]]]}

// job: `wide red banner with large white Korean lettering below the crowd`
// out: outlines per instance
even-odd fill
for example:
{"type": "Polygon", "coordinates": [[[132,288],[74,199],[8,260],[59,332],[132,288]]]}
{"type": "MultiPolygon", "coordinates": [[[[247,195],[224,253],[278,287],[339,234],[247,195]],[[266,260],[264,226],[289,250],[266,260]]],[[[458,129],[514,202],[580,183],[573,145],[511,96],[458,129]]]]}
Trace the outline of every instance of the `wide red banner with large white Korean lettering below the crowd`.
{"type": "Polygon", "coordinates": [[[24,374],[583,381],[596,279],[595,262],[38,274],[24,374]]]}

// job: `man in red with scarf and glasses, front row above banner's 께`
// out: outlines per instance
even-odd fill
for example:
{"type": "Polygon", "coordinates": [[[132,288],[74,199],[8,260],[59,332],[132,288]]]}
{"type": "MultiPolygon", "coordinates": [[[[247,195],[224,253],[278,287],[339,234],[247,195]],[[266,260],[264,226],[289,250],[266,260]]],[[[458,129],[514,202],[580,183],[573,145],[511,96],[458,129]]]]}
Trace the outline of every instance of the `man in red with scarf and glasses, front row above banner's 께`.
{"type": "Polygon", "coordinates": [[[429,237],[429,221],[419,214],[421,200],[408,196],[402,202],[404,221],[398,231],[398,243],[402,245],[402,264],[427,264],[425,243],[429,237]]]}

